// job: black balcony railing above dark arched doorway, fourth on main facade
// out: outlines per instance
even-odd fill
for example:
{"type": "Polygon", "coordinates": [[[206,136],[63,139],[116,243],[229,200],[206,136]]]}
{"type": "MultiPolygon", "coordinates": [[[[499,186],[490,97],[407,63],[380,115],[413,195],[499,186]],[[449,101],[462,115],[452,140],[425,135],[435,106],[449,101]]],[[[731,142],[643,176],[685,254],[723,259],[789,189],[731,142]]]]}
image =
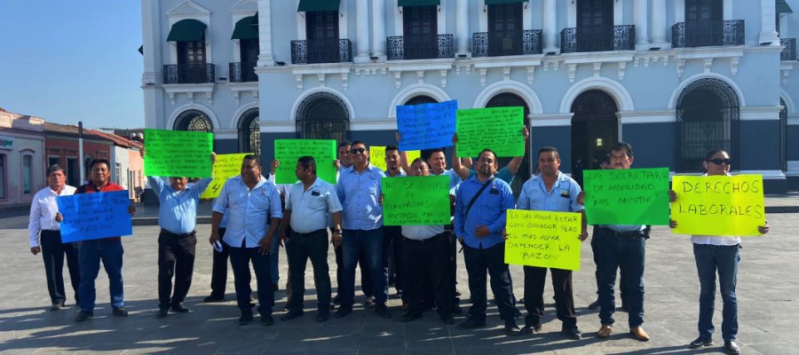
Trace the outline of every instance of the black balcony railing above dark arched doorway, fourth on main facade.
{"type": "Polygon", "coordinates": [[[560,51],[632,51],[636,49],[636,27],[582,26],[560,31],[560,51]]]}

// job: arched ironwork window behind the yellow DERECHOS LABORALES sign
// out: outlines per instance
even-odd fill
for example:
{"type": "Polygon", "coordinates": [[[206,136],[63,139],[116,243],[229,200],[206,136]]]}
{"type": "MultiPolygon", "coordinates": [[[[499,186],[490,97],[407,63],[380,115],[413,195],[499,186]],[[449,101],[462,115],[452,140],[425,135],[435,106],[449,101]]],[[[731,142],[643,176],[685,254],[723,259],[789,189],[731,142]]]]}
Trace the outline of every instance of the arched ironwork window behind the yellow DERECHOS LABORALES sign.
{"type": "Polygon", "coordinates": [[[738,95],[727,83],[704,78],[686,86],[676,104],[677,171],[702,171],[711,149],[724,149],[740,159],[739,119],[738,95]]]}

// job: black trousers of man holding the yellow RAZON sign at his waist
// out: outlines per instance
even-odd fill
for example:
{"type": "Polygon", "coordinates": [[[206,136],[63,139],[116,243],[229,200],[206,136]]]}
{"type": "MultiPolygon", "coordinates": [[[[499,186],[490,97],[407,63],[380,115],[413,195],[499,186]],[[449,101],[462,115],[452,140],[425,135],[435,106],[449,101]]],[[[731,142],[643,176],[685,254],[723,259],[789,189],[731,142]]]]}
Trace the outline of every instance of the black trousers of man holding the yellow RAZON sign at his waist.
{"type": "MultiPolygon", "coordinates": [[[[552,288],[555,288],[555,308],[563,328],[577,327],[577,314],[574,312],[572,295],[572,271],[550,269],[552,288]]],[[[547,280],[547,268],[525,266],[525,323],[534,327],[541,324],[543,317],[543,288],[547,280]]]]}

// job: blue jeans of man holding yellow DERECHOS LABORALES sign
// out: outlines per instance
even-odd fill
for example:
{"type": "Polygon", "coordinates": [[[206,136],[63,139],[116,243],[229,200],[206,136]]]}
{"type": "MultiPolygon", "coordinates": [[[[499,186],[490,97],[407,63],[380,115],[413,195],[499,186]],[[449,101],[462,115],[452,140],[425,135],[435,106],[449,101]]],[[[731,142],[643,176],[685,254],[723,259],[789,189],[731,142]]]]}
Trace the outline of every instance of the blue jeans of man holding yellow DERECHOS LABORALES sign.
{"type": "Polygon", "coordinates": [[[700,318],[697,324],[701,337],[713,336],[713,311],[716,304],[716,271],[724,309],[722,337],[734,341],[738,335],[738,299],[735,284],[738,279],[739,245],[719,246],[693,244],[693,257],[700,278],[700,318]]]}

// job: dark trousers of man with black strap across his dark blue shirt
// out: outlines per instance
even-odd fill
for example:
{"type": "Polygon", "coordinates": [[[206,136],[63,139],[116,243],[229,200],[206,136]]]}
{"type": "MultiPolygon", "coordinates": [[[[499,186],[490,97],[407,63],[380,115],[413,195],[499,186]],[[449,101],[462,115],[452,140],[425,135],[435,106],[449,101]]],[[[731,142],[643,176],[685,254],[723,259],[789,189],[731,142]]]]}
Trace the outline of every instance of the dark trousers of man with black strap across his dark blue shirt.
{"type": "Polygon", "coordinates": [[[510,269],[505,264],[505,243],[497,243],[491,248],[463,247],[463,259],[466,272],[469,273],[469,293],[471,308],[469,317],[486,319],[487,308],[487,276],[491,276],[491,290],[499,309],[500,317],[505,320],[514,319],[515,305],[513,288],[510,283],[510,269]]]}

